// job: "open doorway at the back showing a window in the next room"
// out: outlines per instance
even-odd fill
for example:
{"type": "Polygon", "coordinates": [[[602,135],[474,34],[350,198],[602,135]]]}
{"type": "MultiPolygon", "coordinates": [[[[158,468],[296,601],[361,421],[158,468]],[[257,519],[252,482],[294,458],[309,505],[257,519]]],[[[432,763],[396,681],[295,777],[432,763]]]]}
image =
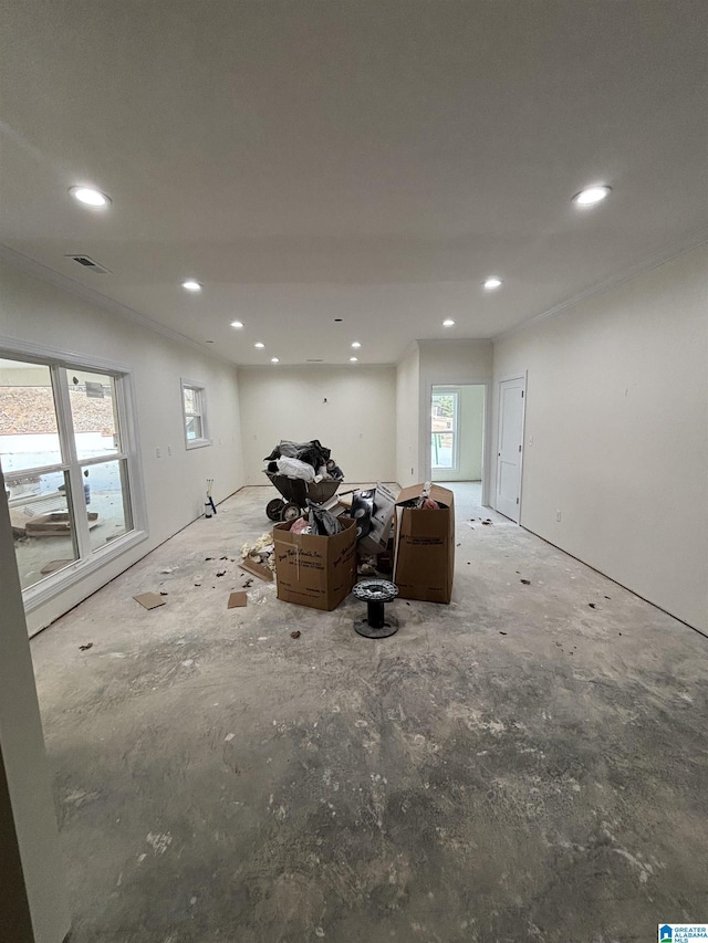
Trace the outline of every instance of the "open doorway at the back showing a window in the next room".
{"type": "Polygon", "coordinates": [[[477,482],[485,469],[485,384],[433,386],[430,480],[477,482]]]}

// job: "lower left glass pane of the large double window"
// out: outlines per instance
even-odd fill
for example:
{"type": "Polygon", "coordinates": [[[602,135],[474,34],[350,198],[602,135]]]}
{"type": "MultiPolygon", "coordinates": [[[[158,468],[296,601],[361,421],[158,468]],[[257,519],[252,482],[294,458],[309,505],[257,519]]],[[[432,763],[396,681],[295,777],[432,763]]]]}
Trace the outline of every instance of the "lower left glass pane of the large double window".
{"type": "Polygon", "coordinates": [[[6,478],[22,589],[79,558],[69,476],[63,471],[6,478]]]}

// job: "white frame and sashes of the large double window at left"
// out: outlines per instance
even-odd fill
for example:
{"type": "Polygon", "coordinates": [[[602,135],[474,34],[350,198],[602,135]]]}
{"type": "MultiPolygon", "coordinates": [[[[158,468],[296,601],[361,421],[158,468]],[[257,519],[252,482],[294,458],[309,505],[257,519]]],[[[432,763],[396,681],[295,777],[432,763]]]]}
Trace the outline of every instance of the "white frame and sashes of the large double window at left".
{"type": "MultiPolygon", "coordinates": [[[[87,518],[75,515],[74,530],[75,542],[79,549],[79,559],[69,564],[33,586],[29,586],[22,593],[25,612],[44,605],[60,593],[69,589],[74,584],[85,579],[88,575],[111,563],[116,557],[132,549],[137,544],[147,539],[147,504],[143,483],[142,457],[138,439],[137,412],[135,407],[135,384],[133,369],[126,364],[106,360],[101,357],[86,357],[69,350],[58,350],[15,338],[2,338],[0,340],[0,357],[21,363],[39,364],[49,367],[52,389],[54,391],[54,408],[59,431],[61,461],[41,469],[32,469],[33,472],[64,471],[70,483],[72,495],[77,495],[79,501],[83,495],[83,470],[92,464],[106,461],[124,461],[128,471],[127,500],[133,527],[121,537],[116,537],[110,544],[93,549],[88,535],[87,518]],[[100,458],[79,459],[74,437],[74,425],[69,397],[67,370],[81,370],[87,373],[103,374],[114,378],[115,406],[118,430],[121,436],[121,450],[110,452],[100,458]]],[[[10,472],[7,476],[12,476],[10,472]]],[[[6,474],[3,474],[3,481],[6,474]]]]}

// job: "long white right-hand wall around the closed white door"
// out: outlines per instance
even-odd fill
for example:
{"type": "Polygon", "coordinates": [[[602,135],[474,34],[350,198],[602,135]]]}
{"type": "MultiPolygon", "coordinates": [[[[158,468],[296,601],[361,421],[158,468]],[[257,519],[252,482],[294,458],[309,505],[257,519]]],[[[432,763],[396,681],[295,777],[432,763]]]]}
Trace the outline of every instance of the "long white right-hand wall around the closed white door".
{"type": "Polygon", "coordinates": [[[499,339],[493,419],[528,370],[521,524],[704,630],[707,272],[704,247],[499,339]]]}

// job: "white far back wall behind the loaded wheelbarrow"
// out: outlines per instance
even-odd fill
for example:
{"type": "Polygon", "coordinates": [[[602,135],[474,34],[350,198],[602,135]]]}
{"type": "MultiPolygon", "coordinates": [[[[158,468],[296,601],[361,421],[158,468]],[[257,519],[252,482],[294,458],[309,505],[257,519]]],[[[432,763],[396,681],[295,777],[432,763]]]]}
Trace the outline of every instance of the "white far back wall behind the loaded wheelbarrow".
{"type": "Polygon", "coordinates": [[[281,439],[319,439],[345,481],[394,481],[395,367],[241,367],[239,389],[247,484],[269,484],[263,457],[281,439]]]}

